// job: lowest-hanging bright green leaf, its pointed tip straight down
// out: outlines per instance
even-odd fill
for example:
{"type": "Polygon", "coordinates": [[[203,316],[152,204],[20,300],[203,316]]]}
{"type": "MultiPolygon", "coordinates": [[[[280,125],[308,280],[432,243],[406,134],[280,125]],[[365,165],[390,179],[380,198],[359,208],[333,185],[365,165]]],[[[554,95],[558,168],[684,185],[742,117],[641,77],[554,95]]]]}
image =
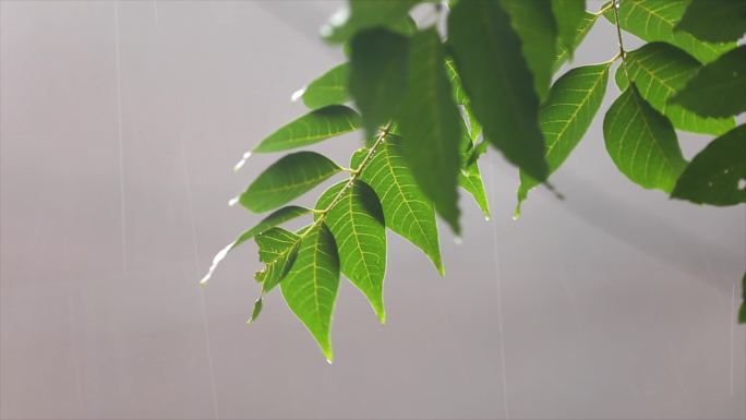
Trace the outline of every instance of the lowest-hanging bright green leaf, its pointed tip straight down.
{"type": "Polygon", "coordinates": [[[330,363],[332,315],[339,288],[339,255],[329,228],[320,224],[304,233],[298,257],[280,283],[288,308],[305,325],[330,363]]]}

